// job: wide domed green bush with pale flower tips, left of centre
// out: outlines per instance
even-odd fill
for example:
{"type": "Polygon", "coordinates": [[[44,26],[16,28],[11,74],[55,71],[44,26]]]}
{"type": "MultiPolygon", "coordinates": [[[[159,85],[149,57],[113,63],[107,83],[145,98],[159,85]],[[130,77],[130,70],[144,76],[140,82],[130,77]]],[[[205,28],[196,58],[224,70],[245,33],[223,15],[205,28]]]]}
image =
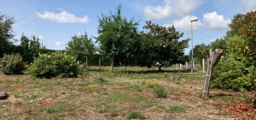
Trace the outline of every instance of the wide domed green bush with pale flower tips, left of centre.
{"type": "Polygon", "coordinates": [[[79,62],[66,52],[40,54],[29,67],[29,73],[35,77],[76,77],[79,72],[79,62]]]}

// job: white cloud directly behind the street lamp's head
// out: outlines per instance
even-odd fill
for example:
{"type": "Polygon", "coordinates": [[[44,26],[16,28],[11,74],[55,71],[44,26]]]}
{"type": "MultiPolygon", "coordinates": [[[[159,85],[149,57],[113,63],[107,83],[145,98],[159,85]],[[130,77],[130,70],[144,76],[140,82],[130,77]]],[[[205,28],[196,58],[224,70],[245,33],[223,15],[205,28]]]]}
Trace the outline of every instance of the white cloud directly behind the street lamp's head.
{"type": "MultiPolygon", "coordinates": [[[[186,32],[190,32],[191,31],[191,19],[195,19],[197,17],[195,17],[194,15],[187,15],[185,17],[183,17],[180,20],[174,20],[173,24],[166,24],[164,26],[171,26],[174,25],[176,29],[178,30],[183,30],[186,32]]],[[[201,23],[200,20],[198,20],[197,22],[193,22],[193,31],[198,30],[199,28],[201,28],[203,26],[203,24],[201,23]]]]}

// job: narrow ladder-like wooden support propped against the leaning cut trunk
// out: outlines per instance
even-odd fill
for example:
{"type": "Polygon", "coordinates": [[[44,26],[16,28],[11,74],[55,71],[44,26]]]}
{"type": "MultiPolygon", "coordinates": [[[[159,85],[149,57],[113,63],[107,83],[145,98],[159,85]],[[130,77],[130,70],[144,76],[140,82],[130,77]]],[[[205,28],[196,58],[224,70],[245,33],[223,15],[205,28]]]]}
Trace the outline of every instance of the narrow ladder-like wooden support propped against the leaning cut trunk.
{"type": "Polygon", "coordinates": [[[207,69],[207,72],[205,75],[204,85],[203,85],[203,90],[202,90],[202,99],[208,99],[210,79],[211,79],[211,74],[212,74],[212,70],[213,70],[212,69],[213,53],[214,52],[211,52],[211,55],[209,58],[208,69],[207,69]]]}

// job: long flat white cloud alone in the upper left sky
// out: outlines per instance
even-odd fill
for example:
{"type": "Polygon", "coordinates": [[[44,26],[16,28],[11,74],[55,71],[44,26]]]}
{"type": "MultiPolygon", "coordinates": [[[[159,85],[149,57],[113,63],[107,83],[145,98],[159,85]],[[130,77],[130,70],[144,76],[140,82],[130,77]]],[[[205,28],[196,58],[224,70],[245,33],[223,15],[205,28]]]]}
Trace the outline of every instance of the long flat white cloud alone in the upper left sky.
{"type": "Polygon", "coordinates": [[[62,11],[61,13],[47,12],[38,13],[36,15],[41,19],[48,19],[57,23],[88,23],[88,16],[78,18],[74,14],[62,11]]]}

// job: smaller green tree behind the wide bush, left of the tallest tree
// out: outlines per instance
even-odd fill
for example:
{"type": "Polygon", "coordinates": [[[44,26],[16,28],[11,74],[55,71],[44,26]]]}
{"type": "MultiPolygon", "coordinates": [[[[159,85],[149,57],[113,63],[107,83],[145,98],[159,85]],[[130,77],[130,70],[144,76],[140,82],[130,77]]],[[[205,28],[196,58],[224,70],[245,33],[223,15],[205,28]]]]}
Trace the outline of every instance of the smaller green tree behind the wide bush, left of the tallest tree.
{"type": "Polygon", "coordinates": [[[67,53],[76,57],[76,60],[85,61],[86,57],[91,57],[95,53],[95,46],[92,38],[88,38],[87,33],[80,36],[74,35],[67,43],[67,53]]]}

